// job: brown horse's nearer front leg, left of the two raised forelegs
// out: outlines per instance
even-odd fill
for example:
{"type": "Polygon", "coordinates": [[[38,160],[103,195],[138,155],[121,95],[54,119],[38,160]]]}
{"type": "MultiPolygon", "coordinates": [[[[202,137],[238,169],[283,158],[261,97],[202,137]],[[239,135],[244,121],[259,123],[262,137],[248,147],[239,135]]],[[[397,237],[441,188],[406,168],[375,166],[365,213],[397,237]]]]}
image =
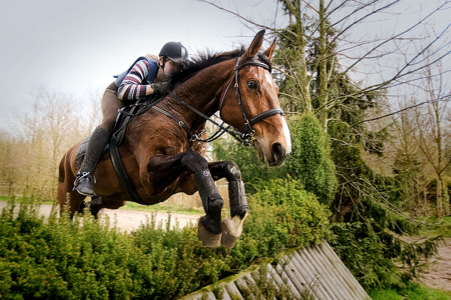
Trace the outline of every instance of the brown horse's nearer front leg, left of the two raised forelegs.
{"type": "Polygon", "coordinates": [[[187,151],[165,157],[165,159],[150,160],[148,169],[164,170],[159,172],[160,181],[161,178],[167,180],[168,177],[171,177],[171,170],[173,171],[172,176],[174,174],[181,175],[185,171],[194,174],[194,182],[199,190],[202,206],[205,210],[205,216],[199,220],[198,237],[204,246],[219,247],[221,244],[221,209],[224,201],[208,170],[208,162],[198,152],[187,151]],[[162,176],[162,173],[165,176],[162,176]]]}

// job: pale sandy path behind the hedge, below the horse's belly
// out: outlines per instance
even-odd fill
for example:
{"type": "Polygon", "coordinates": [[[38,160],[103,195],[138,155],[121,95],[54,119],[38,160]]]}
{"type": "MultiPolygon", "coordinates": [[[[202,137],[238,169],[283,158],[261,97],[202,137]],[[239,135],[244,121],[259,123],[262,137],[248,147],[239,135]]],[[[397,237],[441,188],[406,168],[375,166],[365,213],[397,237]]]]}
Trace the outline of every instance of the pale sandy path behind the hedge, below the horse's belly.
{"type": "MultiPolygon", "coordinates": [[[[0,210],[6,207],[7,203],[0,201],[0,210]]],[[[51,205],[41,205],[39,213],[48,217],[50,215],[51,205]]],[[[197,224],[200,215],[184,215],[178,213],[163,213],[153,212],[155,216],[155,223],[167,222],[170,218],[171,227],[174,227],[178,223],[179,227],[194,226],[197,224]]],[[[141,224],[146,224],[147,220],[150,221],[152,212],[150,211],[138,211],[138,210],[125,210],[125,209],[102,209],[99,212],[99,218],[104,219],[106,216],[110,219],[110,224],[115,223],[116,227],[122,231],[133,231],[140,227],[141,224]]]]}

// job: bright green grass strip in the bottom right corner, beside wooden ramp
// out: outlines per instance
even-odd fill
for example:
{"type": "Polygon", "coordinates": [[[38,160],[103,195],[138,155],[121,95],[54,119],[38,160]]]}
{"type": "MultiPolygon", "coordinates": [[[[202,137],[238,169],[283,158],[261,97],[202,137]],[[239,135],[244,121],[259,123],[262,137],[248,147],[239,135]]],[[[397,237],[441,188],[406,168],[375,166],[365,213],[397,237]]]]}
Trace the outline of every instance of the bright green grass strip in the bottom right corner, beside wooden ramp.
{"type": "Polygon", "coordinates": [[[402,289],[373,290],[369,293],[373,300],[450,300],[451,292],[436,290],[424,285],[410,283],[402,289]]]}

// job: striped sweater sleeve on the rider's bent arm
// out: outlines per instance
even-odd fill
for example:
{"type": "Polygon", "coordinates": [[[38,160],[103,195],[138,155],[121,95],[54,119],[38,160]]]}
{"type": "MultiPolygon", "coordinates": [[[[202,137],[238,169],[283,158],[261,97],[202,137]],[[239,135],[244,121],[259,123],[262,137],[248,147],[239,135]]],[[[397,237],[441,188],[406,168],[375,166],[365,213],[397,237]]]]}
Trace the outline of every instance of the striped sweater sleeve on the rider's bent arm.
{"type": "Polygon", "coordinates": [[[138,100],[146,97],[146,85],[143,84],[143,81],[147,78],[149,69],[147,60],[136,62],[118,88],[119,99],[138,100]]]}

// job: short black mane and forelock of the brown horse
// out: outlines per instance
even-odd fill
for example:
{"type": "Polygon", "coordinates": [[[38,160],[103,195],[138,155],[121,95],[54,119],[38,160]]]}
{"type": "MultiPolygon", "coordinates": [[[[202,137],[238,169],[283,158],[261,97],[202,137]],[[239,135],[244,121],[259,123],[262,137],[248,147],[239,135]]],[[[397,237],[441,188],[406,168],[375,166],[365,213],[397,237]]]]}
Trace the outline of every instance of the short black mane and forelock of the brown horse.
{"type": "MultiPolygon", "coordinates": [[[[226,60],[240,57],[244,54],[245,51],[245,48],[241,47],[240,49],[232,50],[229,52],[198,52],[198,55],[196,57],[190,58],[190,60],[183,63],[182,68],[179,71],[171,72],[169,74],[169,78],[174,84],[180,84],[194,76],[200,70],[226,60]]],[[[269,66],[271,71],[271,60],[262,53],[258,53],[257,55],[263,63],[269,66]]]]}

